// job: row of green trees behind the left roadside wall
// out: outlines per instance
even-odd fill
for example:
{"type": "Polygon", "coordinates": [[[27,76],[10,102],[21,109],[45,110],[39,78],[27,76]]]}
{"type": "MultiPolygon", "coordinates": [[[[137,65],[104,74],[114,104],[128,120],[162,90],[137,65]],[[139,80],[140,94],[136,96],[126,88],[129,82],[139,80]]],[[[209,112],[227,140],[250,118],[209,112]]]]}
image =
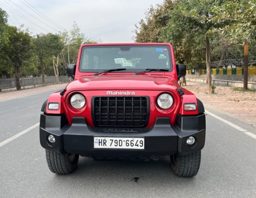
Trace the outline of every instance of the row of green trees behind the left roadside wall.
{"type": "Polygon", "coordinates": [[[52,76],[54,64],[60,75],[66,75],[68,53],[70,63],[76,63],[82,44],[101,42],[85,37],[76,22],[69,31],[31,37],[22,26],[8,26],[7,19],[7,13],[0,8],[0,78],[11,78],[15,73],[21,77],[52,76]]]}

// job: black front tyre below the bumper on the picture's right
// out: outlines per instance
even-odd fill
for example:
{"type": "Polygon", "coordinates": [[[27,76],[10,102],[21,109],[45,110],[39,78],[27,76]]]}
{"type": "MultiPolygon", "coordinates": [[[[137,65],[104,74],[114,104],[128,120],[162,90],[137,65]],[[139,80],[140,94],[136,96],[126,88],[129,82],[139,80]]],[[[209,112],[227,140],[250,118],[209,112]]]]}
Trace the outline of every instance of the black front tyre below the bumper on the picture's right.
{"type": "Polygon", "coordinates": [[[200,162],[201,151],[190,153],[188,155],[170,155],[171,168],[175,175],[180,177],[192,177],[197,174],[200,162]]]}

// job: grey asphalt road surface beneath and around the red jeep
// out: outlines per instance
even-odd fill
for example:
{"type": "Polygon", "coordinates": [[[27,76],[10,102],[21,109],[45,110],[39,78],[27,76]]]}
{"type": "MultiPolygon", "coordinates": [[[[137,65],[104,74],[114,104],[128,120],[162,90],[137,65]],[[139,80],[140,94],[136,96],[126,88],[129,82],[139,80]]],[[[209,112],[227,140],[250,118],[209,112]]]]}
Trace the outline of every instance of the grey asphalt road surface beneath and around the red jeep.
{"type": "MultiPolygon", "coordinates": [[[[39,122],[50,93],[0,102],[0,144],[39,122]]],[[[208,111],[256,134],[252,126],[208,111]]],[[[256,197],[256,139],[211,115],[206,129],[200,170],[182,178],[174,175],[168,157],[150,162],[80,158],[71,175],[56,175],[48,169],[37,126],[0,147],[0,197],[256,197]]]]}

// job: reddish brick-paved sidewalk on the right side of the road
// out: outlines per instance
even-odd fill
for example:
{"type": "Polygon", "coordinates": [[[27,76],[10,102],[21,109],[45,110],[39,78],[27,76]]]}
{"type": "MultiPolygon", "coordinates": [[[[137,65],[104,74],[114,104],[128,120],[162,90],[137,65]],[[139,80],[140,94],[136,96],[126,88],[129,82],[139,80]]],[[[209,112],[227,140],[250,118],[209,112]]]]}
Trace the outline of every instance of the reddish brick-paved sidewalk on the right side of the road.
{"type": "Polygon", "coordinates": [[[217,109],[256,127],[256,92],[243,92],[240,88],[217,85],[215,94],[209,95],[206,94],[206,83],[192,81],[187,81],[187,85],[183,87],[195,94],[205,107],[217,109]]]}

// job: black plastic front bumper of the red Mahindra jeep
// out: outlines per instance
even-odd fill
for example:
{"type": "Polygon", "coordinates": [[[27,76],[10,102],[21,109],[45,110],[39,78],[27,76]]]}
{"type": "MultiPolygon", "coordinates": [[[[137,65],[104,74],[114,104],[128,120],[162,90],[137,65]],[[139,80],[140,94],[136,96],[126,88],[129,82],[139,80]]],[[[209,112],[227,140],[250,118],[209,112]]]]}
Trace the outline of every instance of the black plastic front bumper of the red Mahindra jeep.
{"type": "Polygon", "coordinates": [[[205,141],[205,114],[196,116],[178,115],[176,125],[170,125],[170,119],[160,117],[152,128],[93,128],[87,125],[84,117],[74,117],[72,125],[67,123],[65,114],[40,117],[40,143],[45,149],[57,153],[76,153],[79,155],[186,155],[200,151],[205,141]],[[55,137],[55,143],[48,136],[55,137]],[[94,136],[108,137],[144,137],[144,150],[94,149],[94,136]],[[187,145],[187,138],[193,136],[196,144],[187,145]]]}

